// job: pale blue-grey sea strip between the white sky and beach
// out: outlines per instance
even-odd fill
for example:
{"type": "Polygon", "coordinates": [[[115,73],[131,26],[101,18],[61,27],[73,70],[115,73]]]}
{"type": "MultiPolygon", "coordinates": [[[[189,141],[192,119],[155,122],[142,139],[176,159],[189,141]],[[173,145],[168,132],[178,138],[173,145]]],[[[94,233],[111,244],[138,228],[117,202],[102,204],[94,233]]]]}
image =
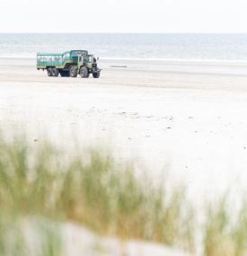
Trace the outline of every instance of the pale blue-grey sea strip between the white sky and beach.
{"type": "Polygon", "coordinates": [[[0,57],[70,49],[87,49],[102,58],[247,61],[247,34],[0,33],[0,57]]]}

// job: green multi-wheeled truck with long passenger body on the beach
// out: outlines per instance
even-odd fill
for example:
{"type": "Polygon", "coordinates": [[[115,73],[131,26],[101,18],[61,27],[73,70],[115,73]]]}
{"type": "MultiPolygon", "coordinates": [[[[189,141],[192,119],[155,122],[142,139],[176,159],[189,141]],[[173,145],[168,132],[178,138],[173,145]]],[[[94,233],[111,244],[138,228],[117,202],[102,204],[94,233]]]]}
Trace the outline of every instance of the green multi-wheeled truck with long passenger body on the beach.
{"type": "Polygon", "coordinates": [[[37,69],[47,70],[49,76],[81,75],[83,78],[99,78],[101,69],[97,66],[96,58],[89,55],[87,50],[70,50],[64,53],[38,53],[37,69]]]}

